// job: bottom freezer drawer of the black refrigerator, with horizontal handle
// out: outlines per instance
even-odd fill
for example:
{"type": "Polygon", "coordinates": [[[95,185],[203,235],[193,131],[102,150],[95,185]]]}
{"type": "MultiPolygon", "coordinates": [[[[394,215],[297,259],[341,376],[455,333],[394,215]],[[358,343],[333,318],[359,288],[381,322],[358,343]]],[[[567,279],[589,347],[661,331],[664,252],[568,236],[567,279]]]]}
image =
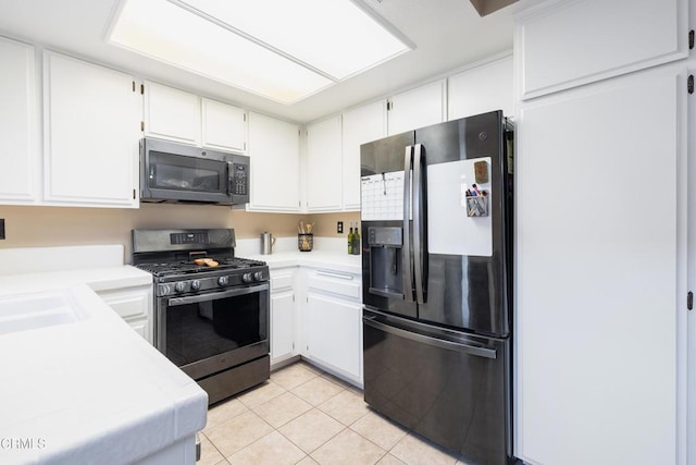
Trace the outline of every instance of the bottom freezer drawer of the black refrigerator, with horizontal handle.
{"type": "Polygon", "coordinates": [[[510,460],[509,340],[363,313],[364,399],[473,463],[510,460]]]}

